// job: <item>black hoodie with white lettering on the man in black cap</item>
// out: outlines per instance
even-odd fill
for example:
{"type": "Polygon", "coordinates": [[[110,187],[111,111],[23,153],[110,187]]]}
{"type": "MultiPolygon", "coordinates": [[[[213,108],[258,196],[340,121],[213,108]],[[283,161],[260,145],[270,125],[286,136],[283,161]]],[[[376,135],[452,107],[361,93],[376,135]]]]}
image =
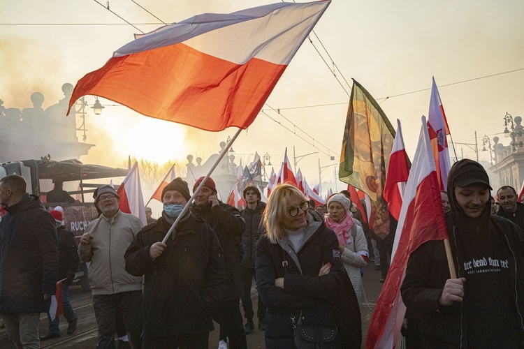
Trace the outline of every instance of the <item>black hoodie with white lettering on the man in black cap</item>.
{"type": "MultiPolygon", "coordinates": [[[[407,306],[410,317],[413,317],[409,319],[408,327],[411,327],[410,330],[414,330],[420,336],[421,342],[417,343],[418,348],[468,348],[468,343],[470,347],[478,347],[479,333],[482,337],[481,346],[489,348],[488,343],[493,343],[493,341],[490,342],[493,333],[499,330],[495,328],[497,324],[493,324],[493,320],[500,314],[489,315],[494,313],[492,310],[487,313],[486,317],[483,317],[485,314],[479,311],[479,306],[475,307],[474,303],[468,304],[468,300],[492,297],[491,304],[487,304],[486,307],[493,309],[493,304],[495,304],[493,302],[500,303],[496,298],[500,295],[490,291],[500,290],[500,287],[497,288],[497,286],[502,283],[498,281],[504,280],[505,276],[505,283],[509,290],[504,289],[502,293],[505,292],[507,296],[505,299],[511,303],[510,306],[514,311],[513,322],[510,324],[513,330],[508,328],[504,336],[501,336],[502,338],[495,339],[497,343],[495,347],[524,348],[522,340],[524,321],[521,316],[524,314],[522,300],[524,274],[521,270],[524,261],[521,255],[523,246],[520,237],[521,230],[504,218],[490,215],[489,200],[479,218],[473,219],[466,216],[458,205],[454,192],[457,184],[465,186],[463,183],[466,179],[470,183],[479,181],[488,183],[488,176],[479,163],[464,159],[453,165],[448,177],[448,198],[451,212],[446,214],[446,223],[457,276],[466,279],[464,300],[448,307],[439,306],[438,299],[442,294],[444,284],[447,279],[450,279],[446,253],[442,242],[426,242],[410,256],[405,280],[402,283],[402,300],[407,306]],[[486,251],[494,253],[485,255],[487,266],[483,265],[484,255],[482,258],[473,258],[475,260],[470,259],[472,255],[476,256],[486,251]],[[490,257],[492,257],[491,260],[489,260],[490,257]],[[496,261],[493,262],[493,260],[496,261]],[[491,267],[493,264],[495,267],[491,267]],[[504,270],[497,274],[498,271],[494,272],[490,269],[504,270]],[[477,274],[471,274],[472,272],[477,274]],[[478,285],[484,281],[483,273],[486,274],[487,279],[495,275],[493,279],[497,280],[497,283],[495,285],[490,283],[480,292],[476,292],[479,291],[479,287],[477,286],[474,290],[472,288],[475,284],[478,285]],[[481,275],[480,279],[478,279],[479,275],[481,275]],[[483,292],[488,297],[483,297],[483,292]],[[472,315],[472,309],[475,313],[472,318],[469,318],[472,315]],[[475,324],[475,327],[468,330],[468,325],[471,324],[475,324]],[[515,346],[514,342],[511,342],[512,334],[514,334],[513,338],[517,338],[519,345],[515,346]]],[[[511,315],[508,318],[511,318],[511,315]]]]}

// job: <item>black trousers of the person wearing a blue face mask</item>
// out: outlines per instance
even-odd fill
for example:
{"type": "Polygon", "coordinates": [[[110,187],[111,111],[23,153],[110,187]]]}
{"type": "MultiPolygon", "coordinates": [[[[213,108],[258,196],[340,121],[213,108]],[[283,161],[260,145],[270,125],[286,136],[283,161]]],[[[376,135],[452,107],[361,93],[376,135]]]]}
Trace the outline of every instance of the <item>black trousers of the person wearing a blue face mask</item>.
{"type": "Polygon", "coordinates": [[[143,349],[208,349],[209,332],[199,334],[176,334],[154,338],[147,335],[143,336],[143,349]]]}

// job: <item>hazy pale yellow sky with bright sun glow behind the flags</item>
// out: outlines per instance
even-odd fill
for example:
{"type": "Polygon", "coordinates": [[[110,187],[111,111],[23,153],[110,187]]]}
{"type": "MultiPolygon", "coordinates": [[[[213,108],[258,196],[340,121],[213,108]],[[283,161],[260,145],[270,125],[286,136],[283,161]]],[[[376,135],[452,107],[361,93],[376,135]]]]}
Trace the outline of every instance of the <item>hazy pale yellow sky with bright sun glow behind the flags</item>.
{"type": "MultiPolygon", "coordinates": [[[[166,23],[180,22],[201,13],[231,13],[272,2],[3,1],[0,99],[5,107],[22,109],[31,107],[29,96],[40,91],[44,108],[57,103],[64,98],[62,84],[74,85],[103,66],[112,52],[140,33],[138,29],[148,32],[163,25],[154,16],[166,23]],[[107,4],[138,29],[110,13],[107,4]]],[[[483,136],[491,144],[498,136],[507,145],[501,134],[504,115],[524,117],[523,15],[524,1],[519,0],[333,0],[314,28],[313,45],[309,40],[303,43],[268,98],[265,114],[259,114],[233,144],[235,161],[251,161],[255,151],[267,153],[278,171],[286,147],[293,164],[295,147],[298,168],[308,183],[318,183],[319,164],[322,181],[333,179],[351,78],[374,96],[391,124],[400,119],[412,157],[421,116],[428,114],[432,76],[458,158],[476,159],[471,149],[476,132],[479,159],[488,161],[488,151],[481,151],[483,136]],[[335,65],[340,70],[336,78],[335,65]]],[[[93,96],[86,98],[94,103],[93,96]]],[[[122,165],[131,155],[185,164],[188,154],[205,159],[217,153],[219,142],[236,131],[200,131],[101,102],[106,106],[103,113],[87,117],[87,142],[96,147],[80,158],[84,163],[122,165]]],[[[337,186],[340,191],[343,184],[337,186]]]]}

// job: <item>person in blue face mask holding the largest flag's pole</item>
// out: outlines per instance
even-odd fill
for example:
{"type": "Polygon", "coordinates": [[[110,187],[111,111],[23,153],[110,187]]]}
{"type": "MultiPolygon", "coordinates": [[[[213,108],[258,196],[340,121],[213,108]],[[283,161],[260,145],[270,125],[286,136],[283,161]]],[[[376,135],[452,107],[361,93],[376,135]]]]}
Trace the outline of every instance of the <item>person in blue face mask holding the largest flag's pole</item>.
{"type": "Polygon", "coordinates": [[[187,211],[189,188],[180,177],[162,191],[163,211],[126,251],[126,271],[144,276],[143,348],[208,348],[211,309],[224,288],[224,260],[212,229],[187,211]]]}

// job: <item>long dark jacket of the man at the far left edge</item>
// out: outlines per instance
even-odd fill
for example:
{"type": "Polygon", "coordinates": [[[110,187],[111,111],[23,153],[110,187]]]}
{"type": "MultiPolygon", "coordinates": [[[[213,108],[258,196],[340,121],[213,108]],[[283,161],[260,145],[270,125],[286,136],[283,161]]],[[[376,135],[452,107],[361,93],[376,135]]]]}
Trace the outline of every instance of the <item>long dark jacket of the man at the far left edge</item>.
{"type": "Polygon", "coordinates": [[[26,194],[0,221],[0,313],[47,313],[57,290],[54,218],[26,194]]]}

